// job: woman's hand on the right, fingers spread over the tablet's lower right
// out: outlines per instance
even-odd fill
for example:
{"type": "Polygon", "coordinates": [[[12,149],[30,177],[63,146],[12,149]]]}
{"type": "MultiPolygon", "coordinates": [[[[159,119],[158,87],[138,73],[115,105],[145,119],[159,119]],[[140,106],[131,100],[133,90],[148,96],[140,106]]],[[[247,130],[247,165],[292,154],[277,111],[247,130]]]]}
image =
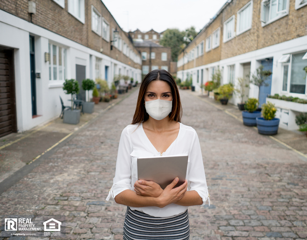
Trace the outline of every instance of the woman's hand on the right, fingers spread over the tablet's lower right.
{"type": "Polygon", "coordinates": [[[173,188],[174,186],[176,186],[178,181],[179,178],[176,177],[174,181],[171,184],[167,185],[162,191],[162,193],[158,197],[158,201],[160,203],[159,207],[165,207],[166,205],[175,203],[185,195],[185,192],[187,191],[188,187],[188,181],[185,179],[185,182],[182,185],[173,188]]]}

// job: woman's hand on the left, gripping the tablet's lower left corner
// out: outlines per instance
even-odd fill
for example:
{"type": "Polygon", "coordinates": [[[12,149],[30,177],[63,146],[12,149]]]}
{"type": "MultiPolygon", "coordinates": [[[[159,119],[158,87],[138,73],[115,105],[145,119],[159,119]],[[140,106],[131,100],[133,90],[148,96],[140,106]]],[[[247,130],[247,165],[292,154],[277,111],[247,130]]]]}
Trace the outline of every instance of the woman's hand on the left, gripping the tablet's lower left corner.
{"type": "Polygon", "coordinates": [[[138,180],[134,183],[134,191],[137,195],[157,198],[163,189],[155,182],[138,180]]]}

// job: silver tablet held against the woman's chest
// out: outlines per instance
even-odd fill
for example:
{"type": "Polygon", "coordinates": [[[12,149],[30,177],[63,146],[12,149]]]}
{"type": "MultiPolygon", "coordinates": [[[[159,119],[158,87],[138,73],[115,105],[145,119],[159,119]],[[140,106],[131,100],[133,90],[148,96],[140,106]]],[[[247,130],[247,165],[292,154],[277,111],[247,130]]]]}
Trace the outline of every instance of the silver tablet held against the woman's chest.
{"type": "Polygon", "coordinates": [[[138,180],[153,181],[162,189],[178,177],[175,187],[185,182],[188,166],[188,155],[139,157],[138,180]]]}

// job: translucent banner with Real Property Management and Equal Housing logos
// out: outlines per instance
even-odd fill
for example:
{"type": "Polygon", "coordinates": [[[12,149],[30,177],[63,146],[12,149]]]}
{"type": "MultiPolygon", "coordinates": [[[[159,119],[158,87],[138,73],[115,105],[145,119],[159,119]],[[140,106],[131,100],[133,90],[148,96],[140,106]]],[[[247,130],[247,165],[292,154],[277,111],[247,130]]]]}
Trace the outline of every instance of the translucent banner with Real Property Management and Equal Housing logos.
{"type": "Polygon", "coordinates": [[[65,216],[1,216],[0,237],[65,236],[65,216]]]}

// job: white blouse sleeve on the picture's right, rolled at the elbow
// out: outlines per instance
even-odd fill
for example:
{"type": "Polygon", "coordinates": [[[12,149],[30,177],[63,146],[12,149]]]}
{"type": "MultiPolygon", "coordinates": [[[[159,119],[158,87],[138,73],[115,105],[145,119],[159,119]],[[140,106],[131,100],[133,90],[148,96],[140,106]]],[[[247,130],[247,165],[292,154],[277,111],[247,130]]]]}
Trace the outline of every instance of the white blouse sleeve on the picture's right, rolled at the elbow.
{"type": "Polygon", "coordinates": [[[190,165],[188,169],[188,179],[190,182],[190,190],[196,191],[203,199],[204,206],[207,199],[210,206],[210,195],[208,193],[208,186],[206,182],[206,176],[204,171],[203,157],[201,154],[200,143],[197,133],[194,133],[191,149],[189,152],[190,165]]]}

